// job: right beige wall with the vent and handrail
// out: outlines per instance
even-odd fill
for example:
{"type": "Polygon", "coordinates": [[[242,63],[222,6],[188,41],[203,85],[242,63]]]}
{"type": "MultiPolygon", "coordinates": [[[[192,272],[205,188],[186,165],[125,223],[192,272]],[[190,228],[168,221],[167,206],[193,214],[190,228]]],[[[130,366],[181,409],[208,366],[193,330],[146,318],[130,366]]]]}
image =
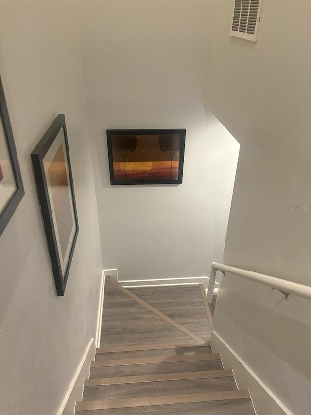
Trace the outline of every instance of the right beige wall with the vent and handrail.
{"type": "MultiPolygon", "coordinates": [[[[241,143],[225,263],[307,285],[311,211],[287,206],[311,205],[310,5],[264,1],[252,43],[228,36],[232,2],[212,2],[206,94],[241,143]]],[[[310,315],[306,300],[221,280],[214,330],[295,415],[311,413],[310,315]]]]}

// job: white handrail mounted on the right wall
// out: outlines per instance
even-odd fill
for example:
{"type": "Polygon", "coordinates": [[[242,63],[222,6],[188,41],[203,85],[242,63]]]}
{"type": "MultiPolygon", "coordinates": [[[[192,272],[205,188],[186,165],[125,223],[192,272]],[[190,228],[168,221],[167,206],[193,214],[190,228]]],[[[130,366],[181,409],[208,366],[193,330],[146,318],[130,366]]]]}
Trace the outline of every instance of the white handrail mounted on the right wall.
{"type": "Polygon", "coordinates": [[[211,303],[213,300],[217,270],[221,272],[229,272],[230,274],[235,274],[239,277],[243,277],[251,281],[256,281],[260,284],[267,285],[268,287],[279,289],[281,291],[297,295],[298,297],[311,300],[311,287],[309,287],[308,285],[298,284],[293,281],[282,280],[281,278],[271,277],[270,275],[265,274],[259,274],[258,272],[254,271],[247,271],[242,270],[241,268],[230,267],[225,264],[219,264],[218,262],[212,262],[207,291],[208,303],[211,303]]]}

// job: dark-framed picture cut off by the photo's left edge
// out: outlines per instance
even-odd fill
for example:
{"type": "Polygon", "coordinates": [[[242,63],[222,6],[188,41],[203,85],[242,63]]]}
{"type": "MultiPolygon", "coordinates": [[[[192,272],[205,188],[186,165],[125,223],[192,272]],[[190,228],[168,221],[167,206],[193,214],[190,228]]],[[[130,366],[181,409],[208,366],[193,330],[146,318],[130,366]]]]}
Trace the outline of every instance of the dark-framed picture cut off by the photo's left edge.
{"type": "Polygon", "coordinates": [[[6,105],[2,79],[1,84],[1,159],[0,159],[0,192],[1,192],[1,235],[6,225],[24,196],[13,131],[6,105]]]}

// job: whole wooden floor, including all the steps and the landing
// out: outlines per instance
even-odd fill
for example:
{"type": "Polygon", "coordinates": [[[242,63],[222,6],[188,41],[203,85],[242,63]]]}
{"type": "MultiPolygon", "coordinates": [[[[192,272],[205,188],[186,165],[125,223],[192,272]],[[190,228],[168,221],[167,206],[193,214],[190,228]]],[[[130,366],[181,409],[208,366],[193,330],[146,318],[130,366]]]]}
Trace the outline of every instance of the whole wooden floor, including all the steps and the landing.
{"type": "Polygon", "coordinates": [[[254,415],[212,353],[208,319],[203,286],[129,291],[107,279],[101,347],[75,414],[254,415]]]}

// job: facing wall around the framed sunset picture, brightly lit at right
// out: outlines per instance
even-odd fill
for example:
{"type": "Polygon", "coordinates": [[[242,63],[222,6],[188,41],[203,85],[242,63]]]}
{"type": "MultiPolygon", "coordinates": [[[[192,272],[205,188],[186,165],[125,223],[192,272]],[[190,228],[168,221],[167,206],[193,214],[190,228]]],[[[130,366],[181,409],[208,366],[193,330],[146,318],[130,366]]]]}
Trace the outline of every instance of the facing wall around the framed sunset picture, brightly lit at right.
{"type": "Polygon", "coordinates": [[[239,145],[203,105],[208,10],[81,5],[103,262],[121,280],[204,276],[223,254],[239,145]],[[107,128],[186,128],[183,183],[111,186],[107,128]]]}

